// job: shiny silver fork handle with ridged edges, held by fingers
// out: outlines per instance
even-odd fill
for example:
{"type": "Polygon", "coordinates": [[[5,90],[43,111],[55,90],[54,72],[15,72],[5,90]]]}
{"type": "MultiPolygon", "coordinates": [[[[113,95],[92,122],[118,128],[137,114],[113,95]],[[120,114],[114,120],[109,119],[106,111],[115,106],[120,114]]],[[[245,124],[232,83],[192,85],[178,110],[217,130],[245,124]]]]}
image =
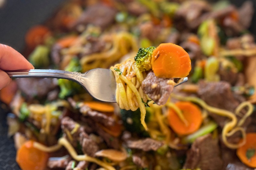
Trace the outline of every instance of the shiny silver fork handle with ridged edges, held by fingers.
{"type": "Polygon", "coordinates": [[[63,71],[63,70],[8,70],[5,71],[10,78],[63,78],[68,80],[75,80],[76,72],[63,71]]]}

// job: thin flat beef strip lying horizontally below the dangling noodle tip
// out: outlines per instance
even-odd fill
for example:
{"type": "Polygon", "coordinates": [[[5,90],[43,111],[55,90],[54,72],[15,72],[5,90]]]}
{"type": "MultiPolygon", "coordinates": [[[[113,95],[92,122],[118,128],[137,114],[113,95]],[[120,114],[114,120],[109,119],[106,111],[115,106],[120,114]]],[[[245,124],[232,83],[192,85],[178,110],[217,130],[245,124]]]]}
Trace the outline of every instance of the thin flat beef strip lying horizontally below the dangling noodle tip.
{"type": "Polygon", "coordinates": [[[127,140],[126,144],[129,148],[141,149],[143,151],[156,151],[164,144],[160,141],[156,141],[151,138],[139,139],[139,140],[127,140]]]}

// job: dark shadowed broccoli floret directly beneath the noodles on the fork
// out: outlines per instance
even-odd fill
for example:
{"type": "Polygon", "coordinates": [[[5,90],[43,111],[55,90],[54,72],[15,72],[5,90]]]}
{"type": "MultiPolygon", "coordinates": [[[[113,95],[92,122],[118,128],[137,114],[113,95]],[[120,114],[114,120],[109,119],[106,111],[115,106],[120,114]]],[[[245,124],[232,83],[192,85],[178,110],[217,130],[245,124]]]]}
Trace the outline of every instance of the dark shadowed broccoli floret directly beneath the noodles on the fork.
{"type": "MultiPolygon", "coordinates": [[[[130,132],[135,132],[142,136],[148,136],[148,133],[145,131],[144,127],[140,122],[140,108],[135,111],[121,109],[121,118],[123,125],[126,130],[130,132]]],[[[148,123],[150,118],[150,112],[146,110],[145,122],[148,123]]]]}

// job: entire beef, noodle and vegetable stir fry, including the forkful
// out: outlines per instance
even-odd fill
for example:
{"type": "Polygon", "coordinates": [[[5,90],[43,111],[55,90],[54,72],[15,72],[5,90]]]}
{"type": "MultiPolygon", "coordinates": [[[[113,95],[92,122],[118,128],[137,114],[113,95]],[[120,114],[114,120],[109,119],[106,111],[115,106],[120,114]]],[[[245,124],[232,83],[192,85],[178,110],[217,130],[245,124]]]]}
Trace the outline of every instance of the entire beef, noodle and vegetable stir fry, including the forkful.
{"type": "Polygon", "coordinates": [[[23,55],[36,69],[111,69],[117,103],[69,80],[12,81],[0,98],[20,168],[256,168],[253,11],[251,1],[63,4],[28,30],[23,55]]]}

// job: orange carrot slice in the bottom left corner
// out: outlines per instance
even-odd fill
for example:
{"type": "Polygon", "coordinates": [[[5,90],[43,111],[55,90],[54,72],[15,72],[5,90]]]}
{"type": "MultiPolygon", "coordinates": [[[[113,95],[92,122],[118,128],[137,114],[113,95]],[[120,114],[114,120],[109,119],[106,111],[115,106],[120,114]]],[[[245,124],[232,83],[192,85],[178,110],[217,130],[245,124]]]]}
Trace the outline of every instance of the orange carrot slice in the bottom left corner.
{"type": "Polygon", "coordinates": [[[17,151],[16,161],[23,170],[44,170],[48,160],[48,153],[33,146],[34,141],[29,140],[17,151]]]}

